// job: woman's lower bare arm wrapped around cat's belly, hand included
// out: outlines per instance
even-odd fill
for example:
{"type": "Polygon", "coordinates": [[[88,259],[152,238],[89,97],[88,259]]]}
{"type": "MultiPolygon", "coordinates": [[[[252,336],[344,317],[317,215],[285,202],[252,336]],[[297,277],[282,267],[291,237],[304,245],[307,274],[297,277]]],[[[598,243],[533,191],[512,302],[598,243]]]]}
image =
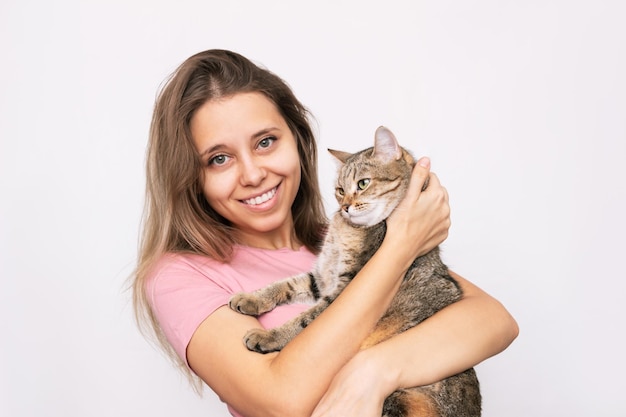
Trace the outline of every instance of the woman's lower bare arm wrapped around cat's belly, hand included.
{"type": "Polygon", "coordinates": [[[416,327],[359,352],[334,378],[313,417],[380,416],[399,388],[431,384],[506,349],[516,321],[496,299],[459,275],[463,298],[416,327]]]}

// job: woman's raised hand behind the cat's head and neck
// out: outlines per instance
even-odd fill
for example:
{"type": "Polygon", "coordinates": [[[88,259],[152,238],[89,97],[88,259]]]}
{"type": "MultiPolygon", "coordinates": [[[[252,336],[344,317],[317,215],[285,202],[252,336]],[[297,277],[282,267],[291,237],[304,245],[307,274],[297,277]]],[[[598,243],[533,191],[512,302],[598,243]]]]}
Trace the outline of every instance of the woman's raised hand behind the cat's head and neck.
{"type": "Polygon", "coordinates": [[[442,243],[449,228],[448,192],[430,172],[430,160],[421,158],[413,169],[404,200],[387,219],[389,239],[385,240],[396,245],[410,264],[442,243]],[[428,185],[422,190],[424,184],[428,185]]]}

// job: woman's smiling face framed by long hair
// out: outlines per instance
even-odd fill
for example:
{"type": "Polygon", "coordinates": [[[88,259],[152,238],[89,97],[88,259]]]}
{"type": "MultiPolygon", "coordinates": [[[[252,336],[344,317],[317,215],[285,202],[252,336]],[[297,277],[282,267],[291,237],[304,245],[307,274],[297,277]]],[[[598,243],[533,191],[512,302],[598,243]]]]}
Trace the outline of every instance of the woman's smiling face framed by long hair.
{"type": "Polygon", "coordinates": [[[260,247],[291,244],[291,205],[300,187],[296,140],[260,93],[211,100],[191,119],[211,207],[260,247]]]}

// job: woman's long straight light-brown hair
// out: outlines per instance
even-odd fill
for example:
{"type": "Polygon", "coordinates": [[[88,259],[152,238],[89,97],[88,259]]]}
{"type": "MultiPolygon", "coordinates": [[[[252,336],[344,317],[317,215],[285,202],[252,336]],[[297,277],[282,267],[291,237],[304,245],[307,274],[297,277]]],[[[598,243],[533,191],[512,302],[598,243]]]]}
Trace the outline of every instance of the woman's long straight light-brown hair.
{"type": "Polygon", "coordinates": [[[290,87],[275,74],[231,51],[208,50],[185,60],[161,89],[154,107],[146,155],[143,227],[132,287],[140,329],[146,336],[155,336],[170,359],[190,377],[150,308],[146,279],[155,262],[166,253],[201,254],[222,262],[230,259],[234,233],[202,194],[201,161],[189,125],[206,102],[249,92],[261,93],[276,105],[297,142],[302,174],[291,207],[297,238],[317,253],[326,225],[310,114],[290,87]]]}

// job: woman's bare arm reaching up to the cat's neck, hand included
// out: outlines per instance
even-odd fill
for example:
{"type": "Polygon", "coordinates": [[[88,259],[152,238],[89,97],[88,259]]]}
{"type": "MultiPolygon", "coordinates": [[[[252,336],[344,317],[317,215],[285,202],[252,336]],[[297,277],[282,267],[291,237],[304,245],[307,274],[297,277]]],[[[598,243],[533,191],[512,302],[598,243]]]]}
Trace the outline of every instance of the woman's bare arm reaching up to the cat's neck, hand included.
{"type": "Polygon", "coordinates": [[[194,372],[243,415],[310,416],[387,309],[412,260],[447,236],[447,194],[434,175],[421,192],[428,175],[429,163],[422,160],[402,209],[388,223],[391,238],[385,238],[340,296],[281,352],[249,352],[242,338],[250,328],[260,327],[258,321],[222,307],[200,325],[187,347],[194,372]]]}

